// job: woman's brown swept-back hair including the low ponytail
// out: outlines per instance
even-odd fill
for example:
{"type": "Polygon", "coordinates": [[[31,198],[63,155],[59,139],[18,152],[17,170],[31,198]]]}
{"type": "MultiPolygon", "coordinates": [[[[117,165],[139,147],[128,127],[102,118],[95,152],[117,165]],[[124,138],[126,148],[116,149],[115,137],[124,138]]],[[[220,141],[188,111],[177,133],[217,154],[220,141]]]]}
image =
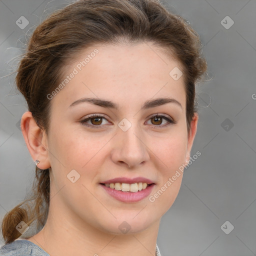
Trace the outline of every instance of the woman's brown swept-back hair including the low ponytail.
{"type": "MultiPolygon", "coordinates": [[[[196,112],[195,83],[206,71],[198,34],[179,15],[158,0],[79,0],[50,14],[32,33],[16,75],[28,110],[47,133],[51,93],[61,82],[64,66],[81,50],[100,43],[152,42],[182,66],[186,91],[186,121],[196,112]]],[[[7,212],[2,220],[5,243],[21,233],[20,221],[37,231],[46,221],[49,206],[49,169],[35,169],[33,195],[7,212]],[[29,202],[35,203],[32,207],[29,202]],[[21,207],[21,205],[23,205],[21,207]]]]}

